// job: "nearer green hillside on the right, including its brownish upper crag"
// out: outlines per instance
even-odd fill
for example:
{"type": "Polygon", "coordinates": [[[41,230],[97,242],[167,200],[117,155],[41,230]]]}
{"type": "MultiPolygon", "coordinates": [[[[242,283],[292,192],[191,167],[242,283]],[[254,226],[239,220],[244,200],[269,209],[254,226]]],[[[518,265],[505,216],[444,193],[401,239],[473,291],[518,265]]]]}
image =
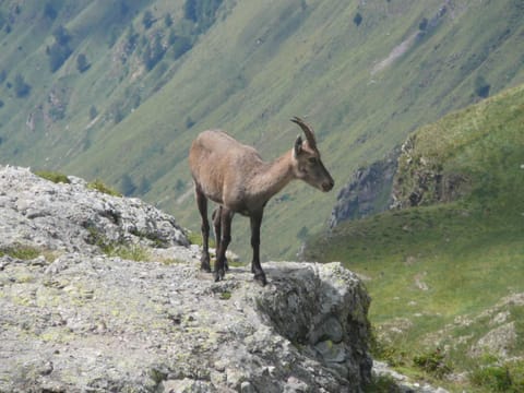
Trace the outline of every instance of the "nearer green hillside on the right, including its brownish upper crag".
{"type": "Polygon", "coordinates": [[[377,356],[452,390],[520,392],[524,85],[419,129],[403,152],[394,189],[406,207],[343,223],[306,257],[367,277],[377,356]]]}

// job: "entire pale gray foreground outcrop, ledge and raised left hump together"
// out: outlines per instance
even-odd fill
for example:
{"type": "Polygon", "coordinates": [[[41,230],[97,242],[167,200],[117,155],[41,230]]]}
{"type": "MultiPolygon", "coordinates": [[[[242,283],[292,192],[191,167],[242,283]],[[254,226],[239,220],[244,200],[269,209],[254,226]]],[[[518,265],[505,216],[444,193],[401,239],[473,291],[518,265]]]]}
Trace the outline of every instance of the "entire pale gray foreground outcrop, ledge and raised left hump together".
{"type": "Polygon", "coordinates": [[[172,217],[73,180],[0,168],[0,392],[362,391],[352,272],[271,262],[265,287],[243,267],[214,283],[172,217]],[[108,257],[94,230],[150,260],[108,257]]]}

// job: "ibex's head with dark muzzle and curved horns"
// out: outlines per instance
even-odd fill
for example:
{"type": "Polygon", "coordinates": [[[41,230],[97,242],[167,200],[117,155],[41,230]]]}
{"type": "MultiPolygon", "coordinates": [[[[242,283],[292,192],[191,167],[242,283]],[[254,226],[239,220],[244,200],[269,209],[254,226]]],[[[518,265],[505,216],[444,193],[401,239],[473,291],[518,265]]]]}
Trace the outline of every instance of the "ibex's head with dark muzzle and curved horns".
{"type": "Polygon", "coordinates": [[[335,181],[320,159],[313,129],[298,117],[294,117],[291,121],[300,126],[306,135],[306,141],[302,141],[302,138],[298,135],[293,148],[296,177],[324,192],[330,191],[335,181]]]}

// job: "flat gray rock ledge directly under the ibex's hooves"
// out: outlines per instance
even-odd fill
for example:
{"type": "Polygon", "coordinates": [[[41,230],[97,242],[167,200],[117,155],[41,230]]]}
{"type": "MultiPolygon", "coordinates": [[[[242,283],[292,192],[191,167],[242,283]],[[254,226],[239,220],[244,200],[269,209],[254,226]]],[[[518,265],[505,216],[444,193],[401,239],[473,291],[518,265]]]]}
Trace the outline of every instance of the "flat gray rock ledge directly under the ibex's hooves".
{"type": "Polygon", "coordinates": [[[188,262],[80,253],[47,266],[2,262],[0,391],[358,392],[370,377],[365,310],[354,309],[367,295],[337,263],[266,263],[262,288],[248,271],[214,283],[188,262]],[[336,289],[324,308],[326,287],[336,289]],[[310,296],[289,306],[291,288],[310,296]],[[324,312],[344,326],[335,356],[309,341],[324,312]]]}

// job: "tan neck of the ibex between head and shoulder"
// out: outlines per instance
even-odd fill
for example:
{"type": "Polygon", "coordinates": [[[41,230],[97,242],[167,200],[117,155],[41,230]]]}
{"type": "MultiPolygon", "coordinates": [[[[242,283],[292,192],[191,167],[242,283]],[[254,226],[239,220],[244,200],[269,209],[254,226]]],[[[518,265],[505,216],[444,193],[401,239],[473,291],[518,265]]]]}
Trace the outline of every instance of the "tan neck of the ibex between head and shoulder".
{"type": "Polygon", "coordinates": [[[264,163],[251,182],[251,193],[264,201],[281,191],[295,176],[290,162],[293,152],[287,152],[274,162],[264,163]]]}

